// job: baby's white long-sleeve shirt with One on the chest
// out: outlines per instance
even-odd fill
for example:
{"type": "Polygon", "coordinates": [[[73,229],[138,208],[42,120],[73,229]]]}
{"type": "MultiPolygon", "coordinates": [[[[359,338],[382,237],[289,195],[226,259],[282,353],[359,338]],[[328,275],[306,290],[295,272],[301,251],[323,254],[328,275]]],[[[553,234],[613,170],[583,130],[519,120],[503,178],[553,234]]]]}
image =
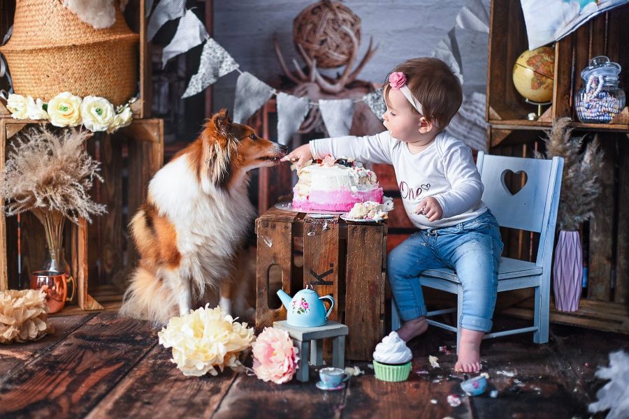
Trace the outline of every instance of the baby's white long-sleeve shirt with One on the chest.
{"type": "Polygon", "coordinates": [[[393,165],[404,209],[417,228],[454,226],[487,211],[481,200],[483,184],[472,158],[472,150],[448,133],[439,133],[423,151],[412,154],[405,142],[389,131],[376,135],[323,138],[310,141],[315,159],[327,154],[337,158],[393,165]],[[428,221],[415,214],[421,200],[432,196],[443,209],[443,217],[428,221]]]}

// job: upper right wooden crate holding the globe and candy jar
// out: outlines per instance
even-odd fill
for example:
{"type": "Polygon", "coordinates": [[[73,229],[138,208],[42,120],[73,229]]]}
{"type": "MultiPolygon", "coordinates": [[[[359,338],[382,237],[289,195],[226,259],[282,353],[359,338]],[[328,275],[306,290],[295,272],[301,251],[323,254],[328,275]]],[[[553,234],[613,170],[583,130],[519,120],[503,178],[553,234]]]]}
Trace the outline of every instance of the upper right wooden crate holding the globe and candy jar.
{"type": "MultiPolygon", "coordinates": [[[[588,60],[597,55],[607,55],[623,68],[629,66],[626,54],[629,42],[629,5],[614,8],[582,25],[572,34],[554,44],[555,80],[553,104],[537,121],[528,121],[529,112],[537,107],[524,101],[516,91],[512,70],[519,55],[528,50],[526,24],[520,0],[491,1],[491,29],[489,33],[489,57],[487,77],[486,119],[493,128],[540,129],[550,126],[556,117],[572,117],[573,126],[595,131],[629,132],[629,111],[616,117],[612,124],[581,124],[574,112],[574,94],[581,88],[581,70],[588,60]]],[[[621,73],[621,86],[628,85],[629,74],[621,73]]],[[[494,132],[491,138],[496,145],[507,133],[494,132]]]]}

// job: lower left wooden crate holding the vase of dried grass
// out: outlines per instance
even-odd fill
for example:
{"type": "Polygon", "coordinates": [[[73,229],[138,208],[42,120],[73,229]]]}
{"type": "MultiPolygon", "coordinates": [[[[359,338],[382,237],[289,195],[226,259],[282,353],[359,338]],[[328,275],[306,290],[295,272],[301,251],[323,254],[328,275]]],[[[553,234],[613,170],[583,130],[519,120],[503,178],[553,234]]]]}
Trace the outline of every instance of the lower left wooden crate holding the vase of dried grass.
{"type": "MultiPolygon", "coordinates": [[[[40,124],[27,119],[0,119],[0,168],[4,167],[6,147],[15,135],[40,124]]],[[[109,289],[111,284],[122,284],[135,263],[135,249],[129,245],[126,224],[129,214],[143,203],[150,178],[163,164],[163,133],[161,119],[133,119],[131,125],[117,133],[98,133],[87,142],[88,151],[102,163],[101,175],[105,179],[103,184],[96,182],[92,198],[106,204],[108,214],[95,217],[89,226],[85,220],[80,220],[78,226],[66,223],[66,259],[77,279],[79,309],[103,309],[88,288],[109,289]]],[[[29,272],[45,255],[45,237],[39,221],[24,213],[18,230],[16,218],[0,216],[0,290],[28,284],[29,272]]],[[[117,289],[120,294],[120,286],[117,289]]],[[[72,304],[61,314],[69,311],[75,311],[72,304]]]]}

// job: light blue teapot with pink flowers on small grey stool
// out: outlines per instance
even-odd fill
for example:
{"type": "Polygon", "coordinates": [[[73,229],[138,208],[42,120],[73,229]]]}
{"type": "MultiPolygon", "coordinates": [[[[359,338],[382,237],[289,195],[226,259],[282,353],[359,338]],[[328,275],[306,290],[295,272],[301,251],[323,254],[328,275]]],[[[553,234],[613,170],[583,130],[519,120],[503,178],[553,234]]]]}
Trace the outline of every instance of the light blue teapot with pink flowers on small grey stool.
{"type": "Polygon", "coordinates": [[[301,328],[315,328],[328,323],[328,316],[334,307],[334,298],[331,295],[319,297],[313,289],[305,288],[291,298],[284,290],[277,291],[277,295],[286,307],[287,323],[301,328]],[[326,311],[323,300],[330,302],[330,308],[326,311]]]}

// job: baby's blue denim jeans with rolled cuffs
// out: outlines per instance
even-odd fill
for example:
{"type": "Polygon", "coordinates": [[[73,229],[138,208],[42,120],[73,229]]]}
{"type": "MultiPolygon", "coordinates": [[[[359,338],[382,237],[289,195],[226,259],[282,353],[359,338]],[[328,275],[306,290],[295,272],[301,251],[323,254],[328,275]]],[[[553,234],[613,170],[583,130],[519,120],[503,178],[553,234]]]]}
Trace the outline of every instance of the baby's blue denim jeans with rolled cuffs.
{"type": "Polygon", "coordinates": [[[403,321],[426,316],[419,274],[447,267],[463,286],[461,327],[489,332],[496,307],[500,228],[489,212],[456,226],[414,233],[389,253],[387,276],[403,321]]]}

